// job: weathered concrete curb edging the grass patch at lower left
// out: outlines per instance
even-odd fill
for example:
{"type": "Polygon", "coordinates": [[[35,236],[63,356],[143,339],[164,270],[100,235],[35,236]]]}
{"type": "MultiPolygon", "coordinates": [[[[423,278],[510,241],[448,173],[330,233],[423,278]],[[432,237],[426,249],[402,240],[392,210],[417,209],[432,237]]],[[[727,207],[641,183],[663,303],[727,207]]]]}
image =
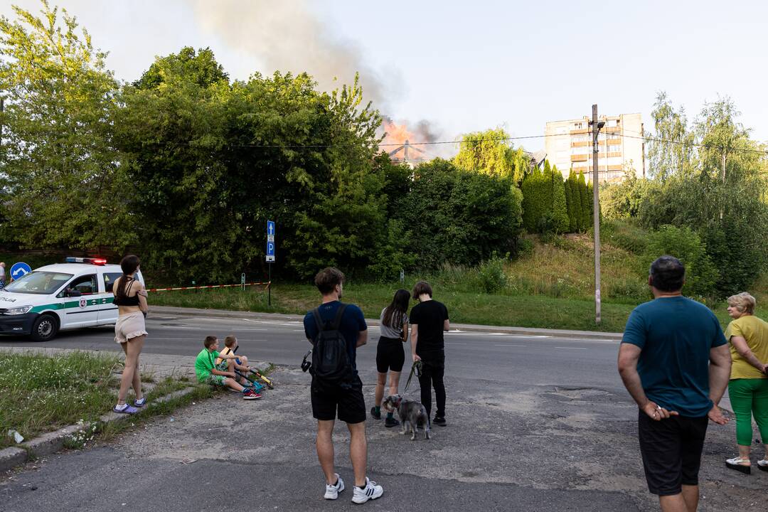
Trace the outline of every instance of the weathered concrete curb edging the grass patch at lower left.
{"type": "MultiPolygon", "coordinates": [[[[152,408],[154,404],[163,404],[167,401],[189,395],[194,390],[195,388],[193,386],[189,386],[180,389],[179,391],[174,391],[161,396],[160,398],[157,398],[157,400],[151,401],[147,405],[147,409],[152,408]]],[[[11,447],[0,450],[0,471],[8,471],[37,457],[45,457],[46,455],[55,454],[64,448],[65,441],[68,438],[71,438],[72,435],[93,428],[94,425],[103,428],[106,424],[115,421],[125,421],[131,417],[132,415],[121,415],[114,411],[108,412],[105,415],[101,415],[98,421],[69,425],[68,427],[60,428],[57,431],[42,434],[38,438],[25,441],[18,445],[21,448],[11,447]]]]}

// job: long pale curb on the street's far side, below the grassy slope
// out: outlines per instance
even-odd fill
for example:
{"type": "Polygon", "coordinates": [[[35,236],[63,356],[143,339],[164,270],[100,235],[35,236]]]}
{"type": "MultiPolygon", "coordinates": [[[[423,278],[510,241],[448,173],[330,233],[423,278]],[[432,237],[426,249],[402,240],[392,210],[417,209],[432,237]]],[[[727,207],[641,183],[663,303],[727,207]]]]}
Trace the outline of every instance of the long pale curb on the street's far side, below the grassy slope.
{"type": "MultiPolygon", "coordinates": [[[[227,309],[200,309],[200,308],[181,308],[177,306],[152,306],[153,313],[165,315],[205,315],[218,318],[245,318],[253,320],[279,320],[290,322],[303,321],[303,315],[285,315],[283,313],[263,313],[251,311],[230,311],[227,309]]],[[[368,325],[379,325],[379,319],[366,319],[368,325]]],[[[451,332],[510,332],[517,335],[532,336],[550,336],[555,338],[568,339],[604,339],[608,341],[621,340],[621,332],[600,332],[600,331],[571,331],[568,329],[541,329],[538,327],[511,327],[504,325],[472,325],[472,324],[451,324],[451,332]]]]}

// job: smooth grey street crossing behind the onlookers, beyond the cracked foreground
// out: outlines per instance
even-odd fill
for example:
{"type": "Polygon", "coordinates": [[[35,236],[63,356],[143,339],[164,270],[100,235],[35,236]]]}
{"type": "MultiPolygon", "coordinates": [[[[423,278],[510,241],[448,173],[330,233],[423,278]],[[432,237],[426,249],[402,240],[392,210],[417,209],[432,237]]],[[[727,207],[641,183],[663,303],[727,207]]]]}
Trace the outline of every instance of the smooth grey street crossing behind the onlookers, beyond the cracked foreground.
{"type": "MultiPolygon", "coordinates": [[[[203,339],[237,335],[238,353],[276,365],[298,365],[309,350],[300,319],[243,319],[189,315],[150,315],[144,358],[151,354],[197,355],[203,339]]],[[[376,375],[379,328],[370,325],[368,344],[358,349],[362,375],[376,375]]],[[[446,372],[465,378],[530,384],[613,386],[621,388],[615,372],[617,341],[561,339],[498,332],[456,332],[445,335],[446,372]],[[557,375],[556,381],[552,376],[557,375]]],[[[61,332],[44,345],[22,337],[0,337],[2,346],[45,346],[120,351],[114,329],[99,327],[61,332]]],[[[407,348],[407,347],[406,347],[407,348]]]]}

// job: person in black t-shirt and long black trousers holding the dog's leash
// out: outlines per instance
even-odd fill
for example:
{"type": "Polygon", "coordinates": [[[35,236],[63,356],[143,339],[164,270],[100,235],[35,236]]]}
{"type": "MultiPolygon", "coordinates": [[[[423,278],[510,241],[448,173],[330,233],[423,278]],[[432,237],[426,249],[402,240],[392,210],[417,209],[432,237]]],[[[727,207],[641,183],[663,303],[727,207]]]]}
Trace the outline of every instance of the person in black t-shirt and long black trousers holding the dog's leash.
{"type": "Polygon", "coordinates": [[[419,385],[422,388],[422,405],[427,415],[432,412],[432,388],[435,388],[437,409],[432,423],[445,427],[445,345],[442,333],[448,331],[448,309],[442,302],[432,300],[432,286],[419,281],[413,287],[413,297],[419,304],[411,309],[411,352],[413,361],[422,362],[419,385]]]}

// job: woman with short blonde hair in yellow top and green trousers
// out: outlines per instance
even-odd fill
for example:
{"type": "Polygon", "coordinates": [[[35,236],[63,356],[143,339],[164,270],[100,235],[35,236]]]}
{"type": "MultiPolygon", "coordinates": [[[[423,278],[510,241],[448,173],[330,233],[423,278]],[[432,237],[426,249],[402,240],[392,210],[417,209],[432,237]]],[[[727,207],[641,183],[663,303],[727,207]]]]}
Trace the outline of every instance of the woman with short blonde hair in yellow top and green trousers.
{"type": "Polygon", "coordinates": [[[768,322],[754,315],[755,298],[743,292],[728,297],[728,324],[725,337],[730,342],[728,396],[736,415],[736,441],[739,456],[726,461],[731,469],[749,474],[751,471],[752,416],[766,453],[757,467],[768,471],[768,322]]]}

